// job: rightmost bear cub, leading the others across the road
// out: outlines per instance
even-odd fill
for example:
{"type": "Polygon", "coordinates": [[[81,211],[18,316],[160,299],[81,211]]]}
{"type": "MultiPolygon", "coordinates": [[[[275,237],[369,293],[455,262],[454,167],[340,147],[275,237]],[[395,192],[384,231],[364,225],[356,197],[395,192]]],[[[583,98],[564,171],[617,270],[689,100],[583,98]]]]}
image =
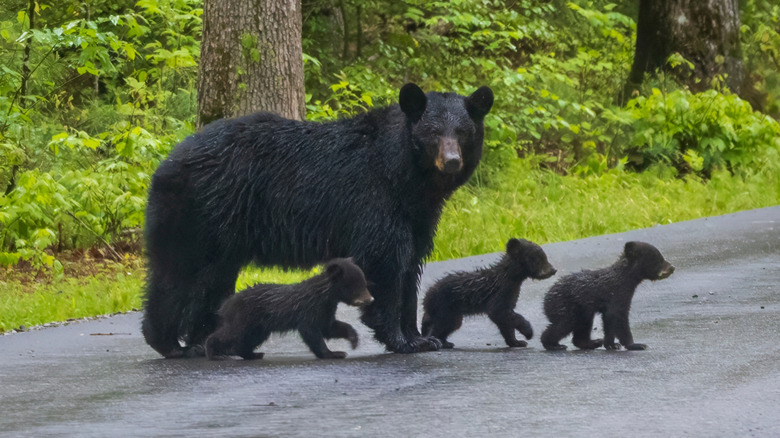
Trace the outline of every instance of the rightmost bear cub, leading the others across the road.
{"type": "Polygon", "coordinates": [[[592,350],[602,344],[616,350],[622,344],[629,350],[644,350],[635,344],[628,326],[628,313],[634,291],[643,280],[662,280],[674,272],[656,247],[644,242],[628,242],[612,266],[584,270],[558,280],[544,296],[544,313],[550,320],[542,333],[547,350],[565,350],[558,342],[573,332],[577,348],[592,350]],[[601,313],[604,339],[590,339],[593,317],[601,313]],[[615,337],[620,344],[615,343],[615,337]]]}

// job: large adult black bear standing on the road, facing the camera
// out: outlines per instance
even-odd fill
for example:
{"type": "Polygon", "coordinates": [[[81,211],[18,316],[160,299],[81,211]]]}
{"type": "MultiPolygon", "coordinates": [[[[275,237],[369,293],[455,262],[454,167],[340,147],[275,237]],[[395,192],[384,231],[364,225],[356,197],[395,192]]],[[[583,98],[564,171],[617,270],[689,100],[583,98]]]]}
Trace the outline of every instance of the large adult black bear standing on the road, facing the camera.
{"type": "Polygon", "coordinates": [[[352,257],[375,298],[363,323],[389,350],[437,350],[417,329],[417,285],[444,202],[482,156],[493,92],[428,94],[330,123],[256,113],[218,120],[152,177],[143,334],[188,355],[217,324],[239,270],[352,257]]]}

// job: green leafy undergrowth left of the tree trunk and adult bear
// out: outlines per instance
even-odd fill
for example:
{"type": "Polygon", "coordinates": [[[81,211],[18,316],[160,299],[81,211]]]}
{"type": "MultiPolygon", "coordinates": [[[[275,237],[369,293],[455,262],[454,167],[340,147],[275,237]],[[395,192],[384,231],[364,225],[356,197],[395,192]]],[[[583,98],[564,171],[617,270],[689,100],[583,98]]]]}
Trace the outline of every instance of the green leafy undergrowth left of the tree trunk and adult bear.
{"type": "Polygon", "coordinates": [[[192,130],[198,3],[0,15],[0,264],[58,273],[56,252],[142,227],[150,175],[192,130]]]}

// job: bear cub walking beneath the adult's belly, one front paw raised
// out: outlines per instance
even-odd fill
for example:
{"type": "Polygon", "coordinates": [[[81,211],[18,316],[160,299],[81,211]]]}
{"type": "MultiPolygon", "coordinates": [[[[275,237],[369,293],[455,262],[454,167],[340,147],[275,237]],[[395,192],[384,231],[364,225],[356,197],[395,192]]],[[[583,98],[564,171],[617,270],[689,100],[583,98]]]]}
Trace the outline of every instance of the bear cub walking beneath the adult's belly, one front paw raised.
{"type": "Polygon", "coordinates": [[[363,307],[374,298],[363,271],[352,259],[333,259],[325,272],[297,284],[256,284],[225,300],[219,309],[219,326],[206,339],[206,356],[241,356],[254,353],[273,332],[297,330],[320,359],[343,359],[343,351],[330,351],[325,339],[342,338],[355,349],[358,336],[346,322],[336,319],[339,302],[363,307]]]}

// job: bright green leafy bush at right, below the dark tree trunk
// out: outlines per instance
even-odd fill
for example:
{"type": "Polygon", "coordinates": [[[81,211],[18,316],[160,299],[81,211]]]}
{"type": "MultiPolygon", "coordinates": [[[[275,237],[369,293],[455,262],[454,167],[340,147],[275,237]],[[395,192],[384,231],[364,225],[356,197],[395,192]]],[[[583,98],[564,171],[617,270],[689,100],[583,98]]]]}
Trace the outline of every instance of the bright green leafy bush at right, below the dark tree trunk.
{"type": "Polygon", "coordinates": [[[681,174],[709,177],[716,169],[739,172],[780,164],[780,124],[730,93],[653,88],[626,109],[608,109],[605,115],[630,133],[621,152],[638,168],[661,162],[681,174]]]}

